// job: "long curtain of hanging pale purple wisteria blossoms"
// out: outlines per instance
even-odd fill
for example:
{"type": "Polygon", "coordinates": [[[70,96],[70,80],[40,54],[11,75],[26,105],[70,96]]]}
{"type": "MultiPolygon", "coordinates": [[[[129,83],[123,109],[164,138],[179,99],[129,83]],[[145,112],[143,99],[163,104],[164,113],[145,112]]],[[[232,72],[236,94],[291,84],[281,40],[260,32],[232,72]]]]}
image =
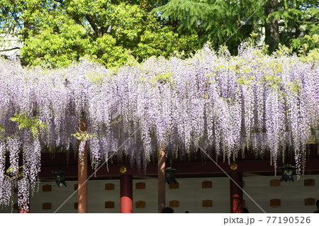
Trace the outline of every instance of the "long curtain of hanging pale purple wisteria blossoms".
{"type": "Polygon", "coordinates": [[[0,60],[1,205],[9,205],[17,186],[18,205],[28,208],[41,149],[77,147],[72,134],[81,133],[82,117],[94,168],[128,140],[116,154],[138,166],[145,167],[159,145],[174,157],[199,145],[228,161],[246,148],[270,156],[275,168],[279,157],[292,153],[300,175],[310,137],[319,138],[318,61],[269,57],[245,43],[237,57],[206,46],[187,60],[150,58],[116,71],[85,60],[55,70],[0,60]],[[36,116],[46,128],[36,136],[19,130],[10,120],[16,113],[36,116]]]}

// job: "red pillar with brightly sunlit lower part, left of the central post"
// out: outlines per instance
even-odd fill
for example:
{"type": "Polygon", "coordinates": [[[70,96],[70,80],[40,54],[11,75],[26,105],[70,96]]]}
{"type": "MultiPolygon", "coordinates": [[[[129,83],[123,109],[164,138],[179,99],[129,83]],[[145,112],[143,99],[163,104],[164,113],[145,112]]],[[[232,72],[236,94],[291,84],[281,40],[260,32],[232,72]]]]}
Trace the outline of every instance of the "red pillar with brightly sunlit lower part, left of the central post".
{"type": "Polygon", "coordinates": [[[133,176],[121,175],[121,213],[133,213],[133,176]]]}

